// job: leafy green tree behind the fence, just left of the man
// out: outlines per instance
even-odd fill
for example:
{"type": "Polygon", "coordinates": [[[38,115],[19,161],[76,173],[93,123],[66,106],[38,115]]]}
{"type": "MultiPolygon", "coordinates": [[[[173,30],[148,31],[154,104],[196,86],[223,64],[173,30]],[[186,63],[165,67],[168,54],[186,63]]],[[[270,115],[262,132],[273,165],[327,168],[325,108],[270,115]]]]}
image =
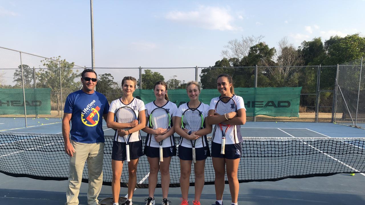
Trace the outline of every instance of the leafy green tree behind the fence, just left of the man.
{"type": "Polygon", "coordinates": [[[60,100],[61,86],[64,100],[66,99],[67,94],[80,88],[80,80],[76,81],[76,78],[80,78],[81,76],[78,74],[78,70],[76,70],[76,73],[73,71],[74,62],[69,63],[66,59],[61,60],[61,56],[44,59],[41,62],[46,68],[40,69],[37,72],[37,79],[39,80],[37,87],[51,88],[51,101],[56,102],[59,115],[63,103],[60,100]],[[59,67],[61,67],[61,75],[59,73],[59,67]]]}

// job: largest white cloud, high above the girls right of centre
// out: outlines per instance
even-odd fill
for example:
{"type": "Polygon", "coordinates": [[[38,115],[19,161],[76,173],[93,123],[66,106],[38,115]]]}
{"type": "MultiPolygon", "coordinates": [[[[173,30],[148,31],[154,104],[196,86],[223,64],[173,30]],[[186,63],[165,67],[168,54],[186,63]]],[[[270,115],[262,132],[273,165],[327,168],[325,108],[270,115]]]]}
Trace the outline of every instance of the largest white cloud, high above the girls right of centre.
{"type": "Polygon", "coordinates": [[[205,7],[200,6],[195,11],[172,11],[166,16],[166,19],[192,24],[197,27],[209,29],[209,30],[240,30],[241,28],[233,26],[235,20],[227,9],[219,7],[205,7]]]}

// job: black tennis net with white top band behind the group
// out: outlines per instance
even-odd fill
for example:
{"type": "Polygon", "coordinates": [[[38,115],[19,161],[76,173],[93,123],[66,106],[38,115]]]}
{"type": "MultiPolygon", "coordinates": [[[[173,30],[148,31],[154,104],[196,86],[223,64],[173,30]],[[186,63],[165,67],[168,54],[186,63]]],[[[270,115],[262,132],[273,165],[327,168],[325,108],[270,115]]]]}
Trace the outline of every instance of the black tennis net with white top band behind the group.
{"type": "MultiPolygon", "coordinates": [[[[239,182],[277,181],[285,178],[365,172],[365,138],[244,138],[238,168],[239,182]]],[[[104,185],[111,185],[112,136],[105,137],[104,185]]],[[[178,138],[176,138],[177,142],[178,138]]],[[[211,144],[211,142],[209,142],[211,144]]],[[[178,151],[178,147],[177,147],[178,151]]],[[[128,186],[124,163],[121,186],[128,186]]],[[[194,186],[194,167],[190,185],[194,186]]],[[[13,177],[67,180],[69,156],[61,134],[0,132],[0,172],[13,177]]],[[[180,162],[170,165],[170,187],[180,186],[180,162]]],[[[144,155],[137,170],[137,187],[148,188],[149,164],[144,155]]],[[[88,182],[87,165],[82,181],[88,182]]],[[[158,175],[157,187],[161,187],[158,175]]],[[[227,177],[226,177],[226,183],[227,177]]],[[[205,184],[214,184],[210,157],[205,162],[205,184]]]]}

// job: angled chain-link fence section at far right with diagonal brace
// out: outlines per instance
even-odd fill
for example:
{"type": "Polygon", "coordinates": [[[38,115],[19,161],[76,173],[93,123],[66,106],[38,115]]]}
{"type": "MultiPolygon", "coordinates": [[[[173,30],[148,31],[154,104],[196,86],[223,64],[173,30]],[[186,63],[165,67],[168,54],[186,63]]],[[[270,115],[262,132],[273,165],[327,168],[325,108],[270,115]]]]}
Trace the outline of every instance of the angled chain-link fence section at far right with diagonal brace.
{"type": "Polygon", "coordinates": [[[335,85],[334,122],[365,128],[364,58],[339,65],[335,85]]]}

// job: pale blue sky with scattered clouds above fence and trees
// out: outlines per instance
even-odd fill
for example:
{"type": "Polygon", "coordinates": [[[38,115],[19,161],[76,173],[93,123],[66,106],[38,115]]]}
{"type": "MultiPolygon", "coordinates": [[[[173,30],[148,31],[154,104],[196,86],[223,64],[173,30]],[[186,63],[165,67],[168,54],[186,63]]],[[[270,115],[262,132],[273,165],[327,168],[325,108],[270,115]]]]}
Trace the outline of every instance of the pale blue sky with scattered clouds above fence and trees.
{"type": "MultiPolygon", "coordinates": [[[[96,67],[204,67],[228,41],[365,35],[365,0],[93,1],[96,67]]],[[[91,67],[90,1],[0,0],[0,46],[91,67]]],[[[1,58],[1,56],[0,56],[1,58]]],[[[0,59],[1,62],[1,59],[0,59]]]]}

